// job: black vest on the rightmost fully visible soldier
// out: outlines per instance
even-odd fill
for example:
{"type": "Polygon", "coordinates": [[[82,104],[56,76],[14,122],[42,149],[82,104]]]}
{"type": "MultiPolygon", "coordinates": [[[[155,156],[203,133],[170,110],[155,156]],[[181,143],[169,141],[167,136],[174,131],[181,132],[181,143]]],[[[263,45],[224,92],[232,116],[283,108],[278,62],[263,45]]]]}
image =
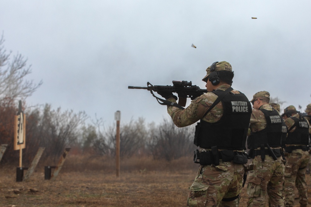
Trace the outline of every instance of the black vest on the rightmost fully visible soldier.
{"type": "Polygon", "coordinates": [[[288,135],[286,138],[286,144],[299,144],[308,145],[309,144],[309,124],[305,118],[299,115],[297,117],[290,117],[295,121],[295,124],[288,129],[288,135]],[[292,128],[296,127],[294,132],[290,132],[292,128]]]}

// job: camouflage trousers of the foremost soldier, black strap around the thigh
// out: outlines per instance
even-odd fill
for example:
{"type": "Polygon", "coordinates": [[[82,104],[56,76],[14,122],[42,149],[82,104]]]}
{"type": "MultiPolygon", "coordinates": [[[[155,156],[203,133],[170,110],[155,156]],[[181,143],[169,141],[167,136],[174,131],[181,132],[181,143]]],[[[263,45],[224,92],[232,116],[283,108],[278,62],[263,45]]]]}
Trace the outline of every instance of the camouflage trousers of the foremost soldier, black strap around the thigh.
{"type": "Polygon", "coordinates": [[[187,206],[237,207],[239,200],[222,201],[242,192],[244,165],[222,162],[222,166],[203,165],[189,187],[187,206]]]}

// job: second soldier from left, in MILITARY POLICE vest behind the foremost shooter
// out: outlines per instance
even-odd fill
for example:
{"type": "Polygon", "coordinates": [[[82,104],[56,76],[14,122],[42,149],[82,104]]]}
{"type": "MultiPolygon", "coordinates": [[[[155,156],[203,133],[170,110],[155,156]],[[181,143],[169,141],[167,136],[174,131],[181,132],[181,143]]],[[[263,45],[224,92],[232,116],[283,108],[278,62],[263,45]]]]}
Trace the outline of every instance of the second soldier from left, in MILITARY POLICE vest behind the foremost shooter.
{"type": "Polygon", "coordinates": [[[284,164],[281,156],[282,118],[269,105],[270,93],[260,91],[253,95],[251,134],[247,140],[249,158],[257,168],[248,174],[248,206],[263,206],[266,195],[269,206],[283,207],[282,189],[284,164]]]}

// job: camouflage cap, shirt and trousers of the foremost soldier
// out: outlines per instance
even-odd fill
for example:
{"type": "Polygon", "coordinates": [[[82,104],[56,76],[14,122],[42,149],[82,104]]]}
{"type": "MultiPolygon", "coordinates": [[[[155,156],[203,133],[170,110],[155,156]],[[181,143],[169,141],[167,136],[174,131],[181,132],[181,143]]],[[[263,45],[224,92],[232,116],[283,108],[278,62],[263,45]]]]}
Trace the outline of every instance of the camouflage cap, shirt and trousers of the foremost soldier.
{"type": "MultiPolygon", "coordinates": [[[[228,64],[230,71],[232,71],[229,63],[224,61],[220,62],[220,64],[228,64]]],[[[228,68],[228,65],[224,68],[228,68]]],[[[210,67],[207,68],[207,76],[209,74],[209,68],[210,67]]],[[[227,88],[230,88],[230,85],[223,84],[216,90],[225,91],[227,88]]],[[[231,92],[234,94],[240,93],[237,90],[232,90],[231,92]]],[[[217,97],[216,94],[207,92],[191,101],[191,104],[184,110],[174,106],[168,106],[167,111],[172,117],[174,124],[178,127],[194,124],[200,119],[209,123],[215,123],[220,120],[224,113],[221,102],[216,104],[205,116],[204,114],[217,97]]],[[[174,98],[168,100],[176,102],[174,98]]],[[[199,149],[200,152],[208,150],[209,149],[203,149],[201,147],[199,149]]],[[[228,202],[223,201],[223,199],[239,196],[242,192],[244,166],[245,164],[234,164],[233,161],[224,162],[221,159],[217,166],[213,164],[201,165],[193,184],[189,187],[187,206],[238,206],[239,197],[228,202]]]]}

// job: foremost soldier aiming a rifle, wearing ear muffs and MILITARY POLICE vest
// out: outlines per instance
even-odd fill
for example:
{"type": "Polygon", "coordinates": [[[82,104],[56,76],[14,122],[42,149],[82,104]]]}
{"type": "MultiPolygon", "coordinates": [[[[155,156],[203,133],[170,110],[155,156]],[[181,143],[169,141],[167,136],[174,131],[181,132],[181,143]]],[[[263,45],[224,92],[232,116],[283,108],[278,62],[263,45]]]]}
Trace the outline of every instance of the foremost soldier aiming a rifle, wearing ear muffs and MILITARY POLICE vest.
{"type": "MultiPolygon", "coordinates": [[[[187,206],[239,205],[242,192],[244,154],[252,107],[247,97],[231,88],[234,76],[230,63],[214,62],[206,69],[207,93],[197,97],[184,110],[168,106],[167,111],[178,127],[196,123],[194,161],[200,164],[189,188],[187,206]]],[[[168,101],[176,102],[171,92],[159,91],[168,101]]]]}

